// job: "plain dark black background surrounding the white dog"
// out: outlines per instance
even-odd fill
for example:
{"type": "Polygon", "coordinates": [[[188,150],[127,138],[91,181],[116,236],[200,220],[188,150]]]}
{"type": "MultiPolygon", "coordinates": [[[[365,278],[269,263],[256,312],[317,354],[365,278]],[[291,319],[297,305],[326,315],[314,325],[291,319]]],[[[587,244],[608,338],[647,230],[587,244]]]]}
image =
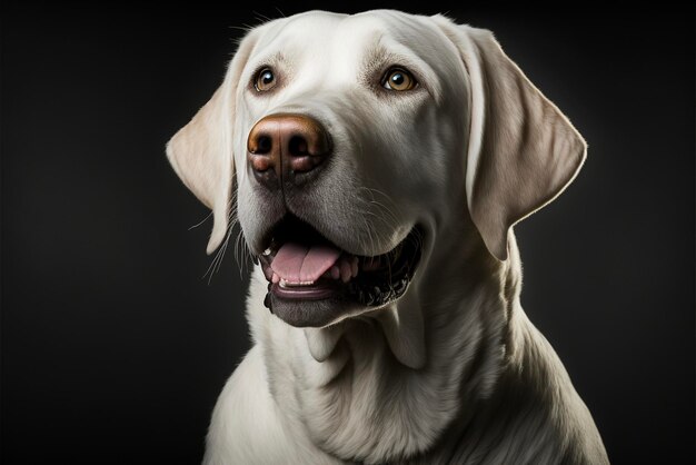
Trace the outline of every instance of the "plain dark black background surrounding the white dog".
{"type": "MultiPolygon", "coordinates": [[[[3,463],[200,461],[249,347],[246,278],[228,254],[208,284],[211,222],[188,230],[208,211],[163,147],[232,27],[327,8],[248,3],[3,3],[3,463]]],[[[523,304],[615,464],[693,463],[693,8],[336,8],[384,6],[494,30],[586,137],[576,182],[516,228],[523,304]]]]}

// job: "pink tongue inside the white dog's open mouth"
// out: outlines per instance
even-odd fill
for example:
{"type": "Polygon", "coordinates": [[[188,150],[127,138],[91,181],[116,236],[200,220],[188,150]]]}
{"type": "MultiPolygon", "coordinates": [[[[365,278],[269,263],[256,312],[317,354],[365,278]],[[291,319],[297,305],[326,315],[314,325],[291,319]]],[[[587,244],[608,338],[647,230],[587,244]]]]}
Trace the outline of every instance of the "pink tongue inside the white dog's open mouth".
{"type": "Polygon", "coordinates": [[[290,284],[316,281],[340,256],[331,246],[311,246],[287,243],[280,247],[270,264],[272,270],[290,284]]]}

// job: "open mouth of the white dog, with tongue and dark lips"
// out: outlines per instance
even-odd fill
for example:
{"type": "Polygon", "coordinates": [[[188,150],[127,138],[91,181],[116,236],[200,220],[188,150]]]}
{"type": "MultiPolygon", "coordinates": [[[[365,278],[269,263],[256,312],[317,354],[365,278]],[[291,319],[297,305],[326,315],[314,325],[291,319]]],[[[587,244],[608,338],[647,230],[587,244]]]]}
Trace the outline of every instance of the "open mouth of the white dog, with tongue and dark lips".
{"type": "Polygon", "coordinates": [[[361,306],[381,306],[406,291],[420,259],[422,231],[414,227],[394,249],[374,257],[352,255],[315,228],[287,215],[269,234],[259,256],[271,294],[284,300],[341,299],[361,306]]]}

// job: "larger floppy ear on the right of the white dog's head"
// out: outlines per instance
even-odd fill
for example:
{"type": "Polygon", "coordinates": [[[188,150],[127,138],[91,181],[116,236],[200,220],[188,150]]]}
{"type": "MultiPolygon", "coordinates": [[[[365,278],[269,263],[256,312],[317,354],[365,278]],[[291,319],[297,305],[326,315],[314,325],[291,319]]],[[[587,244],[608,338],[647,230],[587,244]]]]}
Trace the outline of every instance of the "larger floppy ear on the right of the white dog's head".
{"type": "Polygon", "coordinates": [[[490,31],[434,20],[458,47],[469,78],[469,212],[488,250],[505,260],[510,227],[563,192],[587,146],[490,31]]]}

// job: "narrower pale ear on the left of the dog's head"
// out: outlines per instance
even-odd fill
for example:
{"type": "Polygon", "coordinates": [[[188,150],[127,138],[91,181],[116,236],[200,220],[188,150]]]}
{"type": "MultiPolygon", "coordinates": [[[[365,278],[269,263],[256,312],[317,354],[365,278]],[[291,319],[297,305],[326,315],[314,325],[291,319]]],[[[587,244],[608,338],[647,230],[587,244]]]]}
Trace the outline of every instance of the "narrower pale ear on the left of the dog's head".
{"type": "Polygon", "coordinates": [[[212,233],[206,249],[209,255],[227,235],[235,176],[232,130],[236,93],[255,43],[252,31],[241,41],[222,85],[212,98],[167,144],[167,157],[179,178],[212,210],[212,233]]]}

